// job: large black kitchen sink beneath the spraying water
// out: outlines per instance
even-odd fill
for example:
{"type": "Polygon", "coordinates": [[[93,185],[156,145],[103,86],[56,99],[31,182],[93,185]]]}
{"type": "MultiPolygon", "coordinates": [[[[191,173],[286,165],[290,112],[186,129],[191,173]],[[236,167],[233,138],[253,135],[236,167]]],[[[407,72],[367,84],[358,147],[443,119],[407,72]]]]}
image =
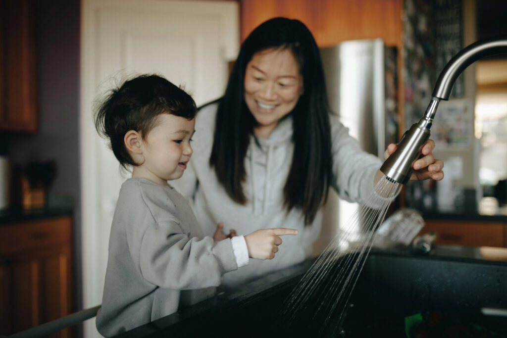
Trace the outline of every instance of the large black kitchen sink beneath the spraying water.
{"type": "Polygon", "coordinates": [[[507,336],[507,317],[501,315],[507,309],[505,262],[372,251],[343,316],[331,313],[323,326],[310,304],[288,323],[281,306],[311,264],[281,270],[121,336],[406,337],[437,324],[446,332],[469,327],[482,336],[507,336]],[[495,315],[484,314],[488,311],[495,315]]]}

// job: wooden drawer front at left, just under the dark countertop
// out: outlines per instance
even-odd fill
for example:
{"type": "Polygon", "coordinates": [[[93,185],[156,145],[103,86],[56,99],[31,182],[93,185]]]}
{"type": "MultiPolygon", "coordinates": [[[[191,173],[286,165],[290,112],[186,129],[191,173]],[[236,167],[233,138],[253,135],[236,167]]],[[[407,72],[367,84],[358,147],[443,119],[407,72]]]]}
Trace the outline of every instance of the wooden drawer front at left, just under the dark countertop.
{"type": "Polygon", "coordinates": [[[71,242],[71,218],[58,217],[0,226],[0,253],[71,242]]]}

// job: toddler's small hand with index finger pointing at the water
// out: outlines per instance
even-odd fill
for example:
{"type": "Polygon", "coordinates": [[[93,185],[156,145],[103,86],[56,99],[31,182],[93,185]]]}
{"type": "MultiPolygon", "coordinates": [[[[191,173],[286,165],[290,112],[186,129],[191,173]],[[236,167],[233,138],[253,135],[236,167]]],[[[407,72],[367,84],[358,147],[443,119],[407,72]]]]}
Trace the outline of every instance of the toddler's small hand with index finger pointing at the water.
{"type": "Polygon", "coordinates": [[[261,229],[245,236],[248,256],[256,259],[272,259],[278,252],[282,239],[278,236],[297,235],[295,229],[275,228],[261,229]]]}

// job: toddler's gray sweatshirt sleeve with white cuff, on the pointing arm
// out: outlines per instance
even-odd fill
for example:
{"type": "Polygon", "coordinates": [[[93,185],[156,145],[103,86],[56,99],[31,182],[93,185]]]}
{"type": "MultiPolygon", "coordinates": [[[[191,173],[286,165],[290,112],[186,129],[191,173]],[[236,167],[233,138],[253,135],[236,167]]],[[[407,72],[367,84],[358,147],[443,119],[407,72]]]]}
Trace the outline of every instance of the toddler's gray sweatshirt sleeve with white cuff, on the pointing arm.
{"type": "Polygon", "coordinates": [[[237,269],[230,239],[189,238],[176,219],[144,232],[139,263],[144,279],[175,290],[218,286],[224,273],[237,269]]]}

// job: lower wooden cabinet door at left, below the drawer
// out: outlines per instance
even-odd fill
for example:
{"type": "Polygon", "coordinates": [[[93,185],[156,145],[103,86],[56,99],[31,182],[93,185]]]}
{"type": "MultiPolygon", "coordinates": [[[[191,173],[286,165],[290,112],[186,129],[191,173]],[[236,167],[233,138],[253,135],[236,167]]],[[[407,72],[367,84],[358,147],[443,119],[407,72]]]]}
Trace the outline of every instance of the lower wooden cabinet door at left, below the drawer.
{"type": "MultiPolygon", "coordinates": [[[[0,334],[70,314],[70,247],[0,258],[0,334]]],[[[69,329],[50,337],[68,337],[69,329]]]]}

